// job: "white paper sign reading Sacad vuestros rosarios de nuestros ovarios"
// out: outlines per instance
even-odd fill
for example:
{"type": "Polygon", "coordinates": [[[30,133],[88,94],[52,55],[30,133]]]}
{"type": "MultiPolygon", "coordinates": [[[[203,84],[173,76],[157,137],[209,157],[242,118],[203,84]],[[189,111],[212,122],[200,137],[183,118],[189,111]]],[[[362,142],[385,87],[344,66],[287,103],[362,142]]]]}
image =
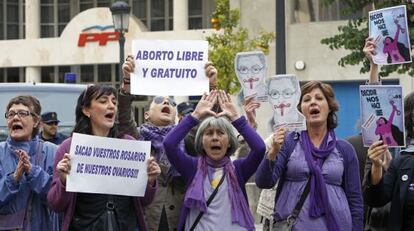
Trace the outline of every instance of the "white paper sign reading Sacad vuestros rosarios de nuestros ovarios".
{"type": "Polygon", "coordinates": [[[73,133],[66,190],[144,196],[150,150],[148,141],[73,133]]]}

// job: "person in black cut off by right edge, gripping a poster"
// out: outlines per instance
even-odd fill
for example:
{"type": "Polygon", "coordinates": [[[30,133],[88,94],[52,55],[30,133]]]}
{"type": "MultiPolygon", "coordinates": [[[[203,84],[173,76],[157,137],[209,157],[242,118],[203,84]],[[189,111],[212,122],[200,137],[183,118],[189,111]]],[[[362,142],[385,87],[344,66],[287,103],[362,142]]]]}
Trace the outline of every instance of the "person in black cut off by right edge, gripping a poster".
{"type": "Polygon", "coordinates": [[[414,230],[414,92],[404,99],[407,147],[384,170],[388,146],[375,142],[368,149],[372,167],[366,174],[364,199],[373,207],[391,202],[388,230],[414,230]]]}

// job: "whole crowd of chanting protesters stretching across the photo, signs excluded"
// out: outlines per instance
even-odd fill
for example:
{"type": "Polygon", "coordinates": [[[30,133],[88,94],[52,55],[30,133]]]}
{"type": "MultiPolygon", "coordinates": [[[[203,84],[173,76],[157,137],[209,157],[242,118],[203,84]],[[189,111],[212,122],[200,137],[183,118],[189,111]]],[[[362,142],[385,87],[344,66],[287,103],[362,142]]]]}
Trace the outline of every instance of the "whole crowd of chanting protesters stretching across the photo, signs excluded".
{"type": "MultiPolygon", "coordinates": [[[[374,50],[367,39],[369,84],[379,83],[374,50]]],[[[197,105],[151,97],[143,124],[131,116],[133,57],[122,70],[119,90],[92,85],[79,95],[73,132],[150,141],[144,196],[66,190],[72,137],[57,133],[56,112],[41,114],[36,98],[16,96],[0,143],[0,230],[255,230],[249,180],[274,192],[265,230],[414,230],[414,93],[404,101],[408,145],[393,158],[386,139],[364,149],[360,136],[336,137],[339,105],[326,83],[301,87],[297,109],[306,130],[282,126],[262,139],[256,128],[268,121],[256,118],[261,103],[247,97],[240,114],[216,89],[212,63],[205,65],[210,92],[197,105]],[[377,213],[389,222],[375,223],[377,213]]]]}

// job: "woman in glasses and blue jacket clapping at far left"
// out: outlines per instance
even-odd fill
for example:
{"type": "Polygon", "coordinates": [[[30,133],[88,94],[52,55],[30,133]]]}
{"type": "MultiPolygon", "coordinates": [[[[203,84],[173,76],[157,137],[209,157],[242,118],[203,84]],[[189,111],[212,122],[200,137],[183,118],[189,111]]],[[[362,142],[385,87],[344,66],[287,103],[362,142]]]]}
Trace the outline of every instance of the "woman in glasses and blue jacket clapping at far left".
{"type": "Polygon", "coordinates": [[[40,112],[32,96],[17,96],[7,105],[8,138],[0,143],[0,230],[52,230],[46,195],[56,145],[37,136],[40,112]]]}

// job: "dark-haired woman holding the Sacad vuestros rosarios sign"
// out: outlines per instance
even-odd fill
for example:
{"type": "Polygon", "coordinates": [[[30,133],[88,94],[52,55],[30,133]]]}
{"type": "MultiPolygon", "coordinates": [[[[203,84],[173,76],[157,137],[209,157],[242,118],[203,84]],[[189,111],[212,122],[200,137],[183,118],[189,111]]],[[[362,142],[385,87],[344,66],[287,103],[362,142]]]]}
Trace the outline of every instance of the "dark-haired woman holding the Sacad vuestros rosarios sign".
{"type": "MultiPolygon", "coordinates": [[[[133,139],[118,133],[116,90],[110,86],[93,85],[81,93],[76,105],[76,125],[73,132],[133,139]]],[[[52,188],[48,194],[50,207],[64,212],[63,230],[147,230],[143,206],[151,203],[157,188],[160,168],[153,158],[148,160],[148,184],[145,196],[129,197],[66,191],[69,174],[70,145],[66,139],[56,152],[52,188]]]]}

